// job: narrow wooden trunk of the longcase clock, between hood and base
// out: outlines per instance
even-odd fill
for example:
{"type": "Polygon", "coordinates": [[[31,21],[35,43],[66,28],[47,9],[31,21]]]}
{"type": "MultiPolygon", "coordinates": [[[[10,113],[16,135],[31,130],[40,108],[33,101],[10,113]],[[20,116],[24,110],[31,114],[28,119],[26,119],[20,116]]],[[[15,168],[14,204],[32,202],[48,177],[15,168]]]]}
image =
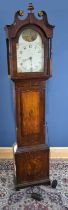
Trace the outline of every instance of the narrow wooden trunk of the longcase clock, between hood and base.
{"type": "Polygon", "coordinates": [[[45,82],[15,83],[17,145],[45,144],[45,82]]]}

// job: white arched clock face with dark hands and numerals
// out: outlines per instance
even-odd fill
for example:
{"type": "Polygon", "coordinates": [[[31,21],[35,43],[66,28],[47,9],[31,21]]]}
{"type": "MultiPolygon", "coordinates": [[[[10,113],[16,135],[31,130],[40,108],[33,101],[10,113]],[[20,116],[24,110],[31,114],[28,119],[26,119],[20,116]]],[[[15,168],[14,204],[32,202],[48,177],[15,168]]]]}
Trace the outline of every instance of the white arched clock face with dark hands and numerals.
{"type": "Polygon", "coordinates": [[[44,44],[40,34],[29,28],[24,29],[16,44],[17,72],[44,71],[44,44]]]}

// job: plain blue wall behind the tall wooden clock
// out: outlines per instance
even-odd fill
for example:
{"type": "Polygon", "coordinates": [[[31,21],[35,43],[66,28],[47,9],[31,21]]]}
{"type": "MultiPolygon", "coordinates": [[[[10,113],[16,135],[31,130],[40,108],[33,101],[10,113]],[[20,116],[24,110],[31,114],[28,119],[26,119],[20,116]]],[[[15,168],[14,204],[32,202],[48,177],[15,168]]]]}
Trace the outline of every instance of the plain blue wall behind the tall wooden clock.
{"type": "MultiPolygon", "coordinates": [[[[28,0],[0,0],[0,146],[15,142],[12,82],[8,79],[6,35],[17,10],[26,12],[28,0]]],[[[35,13],[42,9],[55,25],[53,38],[53,76],[47,81],[46,120],[49,146],[68,146],[68,0],[32,0],[35,13]]]]}

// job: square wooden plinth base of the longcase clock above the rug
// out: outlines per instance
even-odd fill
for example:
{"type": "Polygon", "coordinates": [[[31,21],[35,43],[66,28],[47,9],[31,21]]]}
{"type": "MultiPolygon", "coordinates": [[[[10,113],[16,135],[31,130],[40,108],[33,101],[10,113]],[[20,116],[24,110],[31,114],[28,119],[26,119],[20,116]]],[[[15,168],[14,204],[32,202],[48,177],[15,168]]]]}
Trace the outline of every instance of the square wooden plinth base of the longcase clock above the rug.
{"type": "Polygon", "coordinates": [[[14,150],[14,158],[16,188],[50,183],[48,146],[19,147],[14,150]]]}

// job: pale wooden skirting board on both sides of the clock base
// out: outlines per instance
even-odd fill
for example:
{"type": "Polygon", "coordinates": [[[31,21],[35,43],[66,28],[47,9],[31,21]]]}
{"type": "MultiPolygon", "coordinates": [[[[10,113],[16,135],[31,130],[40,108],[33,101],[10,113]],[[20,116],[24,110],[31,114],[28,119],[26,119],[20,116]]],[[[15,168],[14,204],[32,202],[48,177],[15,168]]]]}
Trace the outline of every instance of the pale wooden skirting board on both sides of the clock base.
{"type": "MultiPolygon", "coordinates": [[[[50,147],[50,158],[68,158],[68,147],[50,147]]],[[[0,147],[0,159],[13,159],[12,147],[0,147]]]]}

